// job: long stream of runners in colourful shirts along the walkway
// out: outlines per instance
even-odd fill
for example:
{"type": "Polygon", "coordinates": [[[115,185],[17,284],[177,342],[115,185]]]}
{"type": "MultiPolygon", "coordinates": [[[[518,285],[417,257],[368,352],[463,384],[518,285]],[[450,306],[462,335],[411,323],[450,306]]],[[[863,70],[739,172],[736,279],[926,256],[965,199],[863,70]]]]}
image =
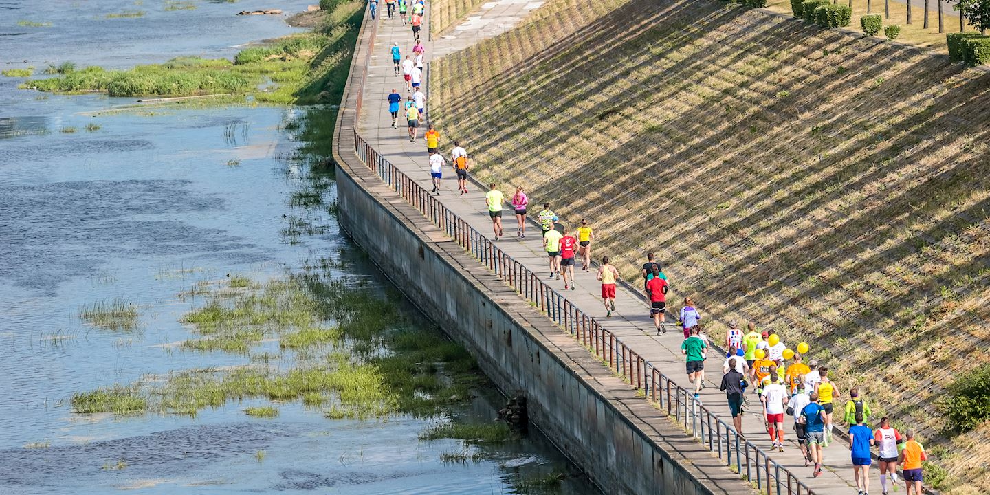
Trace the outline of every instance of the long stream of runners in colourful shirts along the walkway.
{"type": "MultiPolygon", "coordinates": [[[[405,25],[405,0],[386,1],[389,18],[392,17],[396,3],[405,25]]],[[[413,18],[417,19],[417,16],[422,16],[423,1],[418,0],[413,5],[413,18]]],[[[413,24],[414,37],[419,32],[418,28],[419,20],[416,20],[413,24]]],[[[416,143],[417,130],[426,116],[426,97],[420,89],[425,49],[419,38],[415,39],[413,55],[407,55],[405,60],[402,59],[398,44],[391,48],[393,72],[396,76],[400,73],[403,75],[410,94],[405,103],[395,89],[388,96],[392,127],[397,127],[401,111],[407,120],[412,143],[416,143]]],[[[429,154],[432,192],[439,195],[446,159],[440,152],[440,133],[432,124],[428,125],[428,129],[424,138],[429,154]]],[[[461,195],[467,194],[467,152],[454,141],[449,157],[457,176],[457,190],[461,195]]],[[[506,204],[512,208],[516,217],[516,236],[526,238],[530,198],[521,185],[516,186],[515,192],[507,197],[498,189],[497,184],[490,183],[484,200],[496,241],[505,236],[502,212],[506,204]]],[[[592,268],[591,244],[594,231],[584,219],[577,229],[561,225],[559,217],[548,203],[543,204],[543,210],[537,214],[536,220],[542,230],[549,277],[557,280],[562,278],[564,290],[575,290],[574,266],[577,259],[580,258],[583,271],[587,272],[592,268]]],[[[667,276],[652,252],[646,253],[640,272],[644,291],[649,299],[649,316],[657,334],[665,334],[666,295],[669,290],[667,276]]],[[[601,283],[606,316],[611,317],[616,309],[616,284],[621,277],[609,256],[602,256],[596,279],[601,283]]],[[[694,385],[696,399],[699,399],[699,392],[705,388],[704,362],[712,348],[712,342],[705,334],[701,321],[702,316],[694,302],[690,297],[684,298],[677,314],[677,326],[683,332],[681,351],[685,355],[688,380],[694,385]]],[[[823,447],[829,446],[833,441],[833,415],[836,413],[834,404],[841,396],[838,386],[829,378],[828,367],[819,366],[815,359],[805,364],[802,352],[807,352],[807,345],[799,346],[798,352],[788,349],[772,329],[757,332],[755,325],[750,322],[743,335],[735,321],[729,322],[729,327],[724,343],[729,352],[723,365],[724,375],[720,389],[726,392],[736,431],[743,431],[743,408],[748,403],[745,392],[751,387],[760,402],[772,448],[783,451],[785,414],[792,416],[793,430],[798,439],[798,447],[805,457],[805,465],[814,465],[812,476],[820,476],[824,462],[823,447]],[[785,367],[786,360],[792,362],[785,367]]],[[[849,448],[859,495],[868,495],[871,446],[878,448],[880,485],[884,495],[888,492],[888,481],[893,485],[897,483],[898,464],[903,469],[908,495],[921,495],[922,461],[926,459],[926,453],[924,447],[914,440],[915,433],[908,430],[902,437],[886,417],[880,420],[875,431],[870,429],[867,422],[871,412],[866,401],[855,388],[849,391],[849,396],[843,419],[849,425],[849,448]]]]}

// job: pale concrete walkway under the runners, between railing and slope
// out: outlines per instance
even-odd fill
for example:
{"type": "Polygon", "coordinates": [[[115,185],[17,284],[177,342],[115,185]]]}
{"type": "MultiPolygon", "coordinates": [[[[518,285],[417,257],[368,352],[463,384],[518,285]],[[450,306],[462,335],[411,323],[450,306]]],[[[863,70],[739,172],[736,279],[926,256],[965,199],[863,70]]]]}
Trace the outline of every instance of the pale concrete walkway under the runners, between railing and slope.
{"type": "MultiPolygon", "coordinates": [[[[481,6],[477,13],[472,14],[464,24],[451,30],[450,36],[442,37],[433,42],[427,42],[424,38],[427,59],[430,60],[431,57],[437,56],[437,53],[450,53],[477,43],[481,39],[498,35],[518,23],[530,10],[539,7],[540,4],[541,2],[523,0],[495,0],[486,3],[481,6]]],[[[405,57],[406,53],[412,51],[412,32],[409,27],[402,26],[402,22],[398,19],[389,20],[386,18],[379,20],[379,22],[377,41],[364,89],[362,112],[358,116],[358,133],[386,159],[414,179],[418,179],[420,184],[429,190],[431,189],[431,178],[428,154],[425,140],[422,138],[426,129],[420,129],[420,138],[415,145],[410,143],[402,119],[400,119],[398,129],[391,127],[392,119],[388,113],[386,100],[392,88],[396,88],[403,98],[409,95],[405,90],[402,76],[393,75],[391,56],[388,50],[392,43],[397,42],[402,49],[403,57],[405,57]]],[[[424,26],[424,31],[426,29],[424,26]]],[[[428,113],[429,105],[427,102],[428,113]]],[[[449,161],[449,151],[452,144],[445,140],[443,129],[438,131],[441,133],[441,150],[445,159],[449,161]]],[[[470,142],[461,145],[467,149],[470,155],[470,142]]],[[[510,187],[508,184],[502,184],[503,192],[506,193],[507,197],[515,191],[514,188],[510,190],[510,187]]],[[[470,223],[478,232],[493,238],[491,222],[484,204],[484,192],[473,185],[469,185],[468,190],[469,193],[466,195],[457,194],[456,178],[447,166],[444,170],[443,190],[439,199],[444,202],[447,208],[470,223]]],[[[553,198],[534,198],[531,196],[531,214],[542,209],[538,203],[542,205],[545,199],[549,200],[552,208],[553,198]]],[[[561,220],[567,226],[576,226],[579,222],[577,218],[561,220]]],[[[531,230],[528,231],[529,236],[526,239],[517,238],[516,220],[508,208],[504,211],[503,226],[505,237],[498,241],[499,247],[520,262],[525,263],[533,271],[542,274],[544,280],[551,286],[562,290],[562,280],[551,280],[546,276],[549,274],[549,270],[545,268],[547,258],[542,247],[540,232],[531,230]]],[[[594,228],[595,226],[591,227],[594,228]]],[[[532,229],[532,226],[528,229],[532,229]]],[[[593,250],[592,254],[595,257],[600,257],[606,252],[593,250]]],[[[599,294],[600,282],[595,279],[595,272],[582,272],[580,262],[578,262],[575,273],[576,288],[566,293],[566,297],[571,303],[599,320],[606,329],[615,333],[624,343],[633,347],[640,355],[681,386],[690,385],[685,375],[684,358],[680,352],[683,336],[679,330],[668,331],[660,336],[655,335],[655,329],[648,316],[648,309],[641,297],[622,287],[619,289],[616,301],[617,311],[613,313],[611,318],[606,318],[605,308],[599,294]]],[[[637,280],[634,283],[640,282],[637,280]]],[[[672,283],[676,284],[677,281],[673,280],[672,283]]],[[[675,306],[679,307],[679,304],[675,306]]],[[[724,339],[724,336],[721,335],[711,337],[716,343],[721,343],[724,339]]],[[[723,359],[714,354],[715,352],[710,352],[710,357],[706,361],[708,388],[702,390],[701,400],[712,409],[713,413],[726,423],[732,424],[725,395],[718,390],[718,383],[721,382],[723,374],[723,359]]],[[[759,401],[751,394],[748,401],[750,407],[744,415],[743,435],[756,446],[768,451],[770,440],[764,429],[759,401]]],[[[840,402],[844,404],[844,398],[840,402]]],[[[840,416],[838,412],[837,416],[840,416]]],[[[771,458],[801,477],[816,493],[847,494],[855,492],[849,450],[838,438],[832,446],[825,449],[825,470],[822,476],[812,478],[812,468],[804,467],[803,457],[798,450],[794,436],[792,418],[789,416],[785,416],[785,435],[787,438],[785,451],[774,453],[771,458]]],[[[874,466],[870,471],[870,489],[879,494],[881,492],[878,479],[879,470],[874,466]]]]}

